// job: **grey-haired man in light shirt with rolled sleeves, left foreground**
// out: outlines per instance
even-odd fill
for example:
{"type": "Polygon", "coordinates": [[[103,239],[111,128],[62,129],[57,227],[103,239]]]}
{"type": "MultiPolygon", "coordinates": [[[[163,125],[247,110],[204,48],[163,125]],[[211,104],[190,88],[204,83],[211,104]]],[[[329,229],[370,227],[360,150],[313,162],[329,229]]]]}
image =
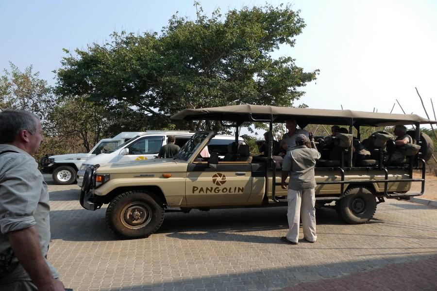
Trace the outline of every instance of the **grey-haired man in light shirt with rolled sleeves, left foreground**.
{"type": "Polygon", "coordinates": [[[47,261],[50,206],[47,184],[32,155],[43,141],[39,118],[0,112],[0,290],[63,291],[47,261]]]}

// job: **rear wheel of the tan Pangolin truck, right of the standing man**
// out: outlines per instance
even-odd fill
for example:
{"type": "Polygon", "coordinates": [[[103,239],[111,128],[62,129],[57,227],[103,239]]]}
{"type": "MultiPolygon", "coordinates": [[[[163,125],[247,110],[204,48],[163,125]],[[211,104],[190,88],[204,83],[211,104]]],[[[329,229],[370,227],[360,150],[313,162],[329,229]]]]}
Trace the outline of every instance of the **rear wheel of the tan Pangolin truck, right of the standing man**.
{"type": "Polygon", "coordinates": [[[376,197],[366,187],[349,188],[337,201],[338,215],[349,224],[369,222],[376,211],[376,197]]]}

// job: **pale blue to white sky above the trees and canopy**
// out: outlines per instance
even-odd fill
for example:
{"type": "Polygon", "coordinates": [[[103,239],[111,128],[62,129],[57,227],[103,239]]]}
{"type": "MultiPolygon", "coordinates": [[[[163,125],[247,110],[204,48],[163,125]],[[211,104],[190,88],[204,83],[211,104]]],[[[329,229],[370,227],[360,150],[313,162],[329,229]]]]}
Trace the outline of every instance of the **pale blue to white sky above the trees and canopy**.
{"type": "MultiPolygon", "coordinates": [[[[268,1],[278,5],[281,1],[268,1]]],[[[263,5],[265,1],[201,2],[204,11],[263,5]]],[[[436,0],[295,0],[307,27],[295,48],[282,47],[306,71],[320,69],[318,80],[296,103],[310,108],[390,112],[398,99],[406,113],[426,116],[419,89],[433,119],[430,98],[437,103],[436,0]]],[[[194,18],[192,0],[0,2],[0,69],[13,62],[28,65],[54,84],[62,48],[103,43],[113,31],[160,31],[176,11],[194,18]]],[[[437,107],[437,104],[436,104],[437,107]]],[[[398,105],[393,113],[402,113],[398,105]]]]}

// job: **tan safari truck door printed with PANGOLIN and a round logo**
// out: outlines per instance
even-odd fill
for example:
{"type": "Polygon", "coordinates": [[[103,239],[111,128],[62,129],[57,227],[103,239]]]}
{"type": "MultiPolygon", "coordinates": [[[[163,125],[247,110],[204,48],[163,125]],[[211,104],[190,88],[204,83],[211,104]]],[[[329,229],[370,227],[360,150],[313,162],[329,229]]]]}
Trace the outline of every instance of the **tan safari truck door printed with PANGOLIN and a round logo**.
{"type": "MultiPolygon", "coordinates": [[[[202,132],[200,132],[202,133],[202,132]]],[[[193,139],[199,139],[196,133],[193,139]]],[[[241,205],[249,200],[252,190],[251,164],[248,162],[219,162],[210,164],[200,158],[208,138],[194,151],[187,166],[185,195],[187,206],[241,205]]],[[[189,146],[189,143],[187,145],[189,146]]]]}

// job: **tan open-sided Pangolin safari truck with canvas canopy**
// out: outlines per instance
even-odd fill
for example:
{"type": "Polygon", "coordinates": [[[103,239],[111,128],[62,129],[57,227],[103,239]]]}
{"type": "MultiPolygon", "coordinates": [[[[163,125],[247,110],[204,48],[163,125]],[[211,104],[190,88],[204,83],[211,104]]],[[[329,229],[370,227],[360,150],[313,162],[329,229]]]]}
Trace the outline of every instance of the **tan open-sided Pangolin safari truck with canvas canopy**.
{"type": "MultiPolygon", "coordinates": [[[[287,119],[295,119],[300,128],[308,124],[347,126],[349,132],[355,128],[355,140],[352,142],[351,139],[342,147],[339,160],[320,161],[315,170],[317,205],[335,201],[337,213],[350,224],[368,222],[377,204],[386,198],[409,199],[423,194],[425,159],[429,159],[433,148],[420,133],[420,124],[436,123],[412,114],[257,105],[185,109],[171,118],[219,120],[223,126],[235,127],[235,141],[238,128],[244,122],[268,123],[270,132],[274,122],[283,123],[287,119]],[[397,124],[416,127],[413,138],[420,151],[393,165],[385,158],[391,154],[385,146],[372,149],[377,158],[357,162],[358,151],[353,148],[359,146],[360,127],[397,124]],[[421,178],[413,178],[414,169],[421,170],[421,178]],[[407,193],[412,182],[421,183],[420,193],[407,193]]],[[[191,209],[286,205],[287,192],[280,187],[281,170],[275,165],[271,145],[266,158],[251,156],[247,145],[239,146],[235,155],[231,144],[230,152],[223,159],[218,159],[217,154],[200,159],[202,148],[214,135],[212,131],[194,134],[172,159],[93,165],[84,175],[81,205],[87,210],[97,210],[103,204],[109,204],[106,222],[123,238],[147,237],[156,232],[165,212],[175,211],[174,208],[188,212],[191,209]]]]}

